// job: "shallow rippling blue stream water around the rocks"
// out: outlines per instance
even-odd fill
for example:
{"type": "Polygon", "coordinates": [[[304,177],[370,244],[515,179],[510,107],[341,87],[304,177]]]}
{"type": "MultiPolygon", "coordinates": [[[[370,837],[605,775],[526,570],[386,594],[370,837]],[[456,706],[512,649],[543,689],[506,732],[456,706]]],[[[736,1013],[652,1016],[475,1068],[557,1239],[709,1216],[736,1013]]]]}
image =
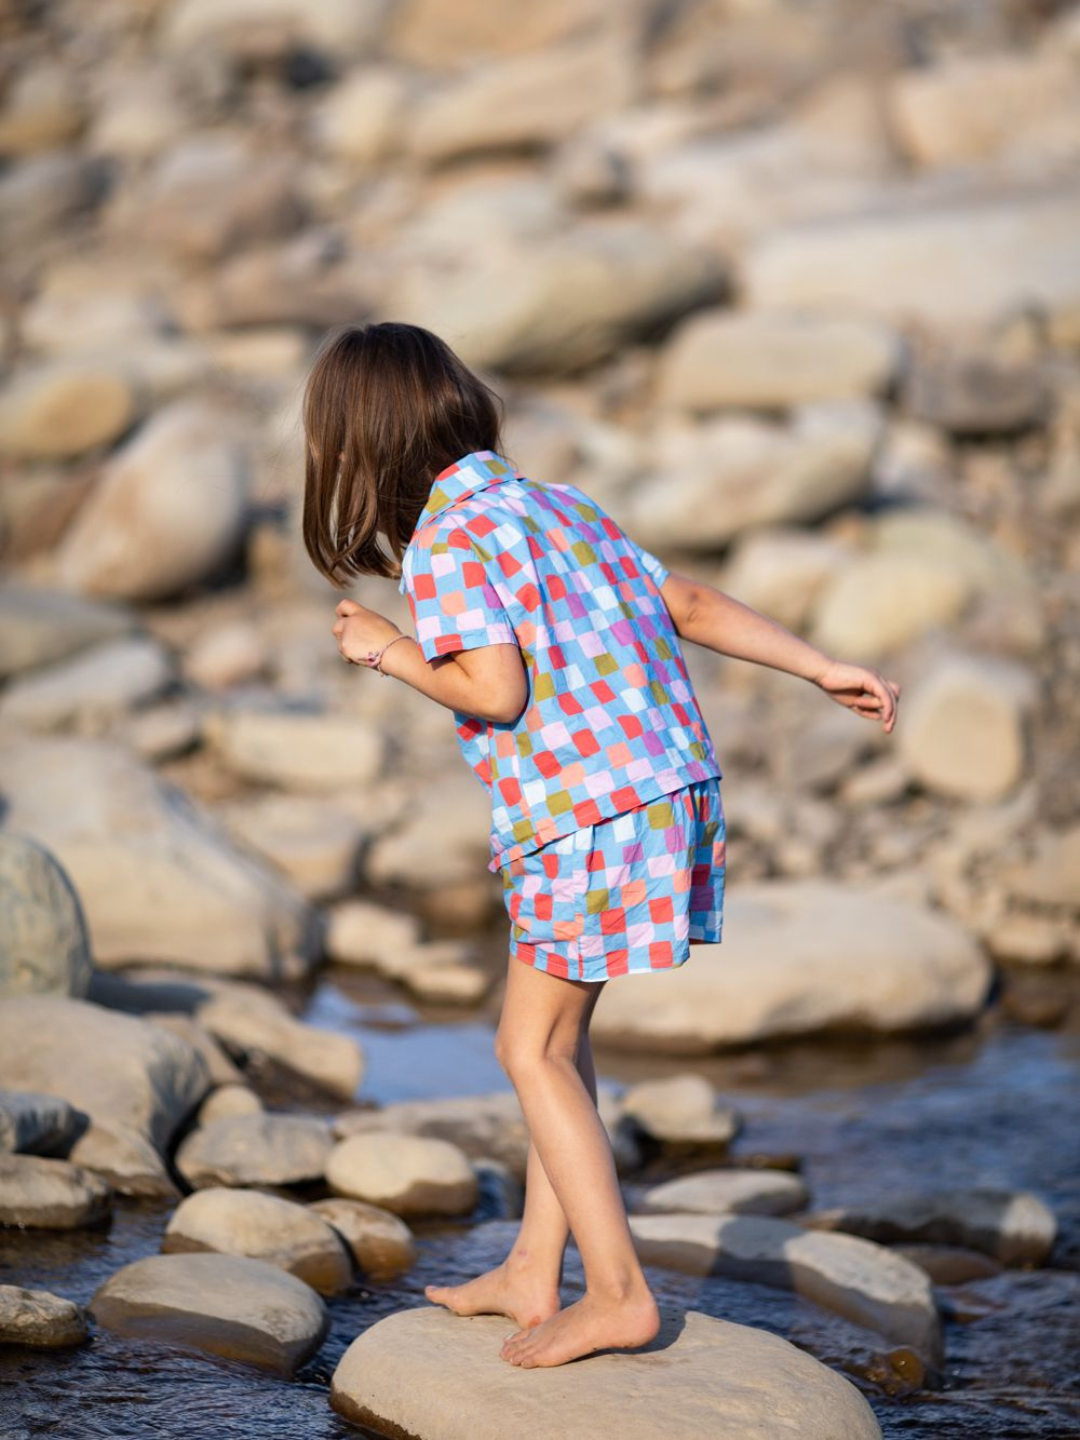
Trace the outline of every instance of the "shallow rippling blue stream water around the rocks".
{"type": "MultiPolygon", "coordinates": [[[[1063,981],[1064,984],[1064,981],[1063,981]]],[[[413,1009],[377,981],[328,972],[305,1018],[360,1035],[357,1099],[389,1103],[504,1089],[491,1007],[413,1009]]],[[[670,1074],[670,1058],[596,1053],[600,1083],[670,1074]]],[[[693,1061],[746,1119],[740,1155],[796,1155],[815,1205],[919,1185],[1031,1188],[1058,1215],[1054,1264],[939,1290],[946,1313],[945,1388],[884,1394],[888,1345],[796,1296],[726,1279],[649,1269],[662,1305],[773,1331],[863,1388],[887,1437],[1067,1440],[1080,1436],[1080,1037],[992,1022],[978,1034],[877,1045],[801,1045],[693,1061]]],[[[649,1174],[649,1182],[662,1172],[649,1174]]],[[[628,1184],[628,1200],[636,1184],[628,1184]]],[[[158,1250],[167,1208],[121,1201],[111,1227],[43,1237],[0,1231],[0,1280],[86,1302],[121,1264],[158,1250]]],[[[331,1302],[333,1331],[294,1381],[181,1351],[94,1333],[78,1351],[0,1355],[0,1440],[330,1440],[364,1434],[328,1404],[351,1339],[393,1310],[426,1305],[429,1280],[468,1279],[505,1253],[516,1221],[492,1194],[474,1225],[418,1227],[419,1261],[396,1282],[357,1284],[331,1302]],[[477,1221],[488,1221],[480,1223],[477,1221]],[[494,1221],[494,1223],[490,1223],[494,1221]]],[[[580,1287],[573,1247],[564,1297],[580,1287]]]]}

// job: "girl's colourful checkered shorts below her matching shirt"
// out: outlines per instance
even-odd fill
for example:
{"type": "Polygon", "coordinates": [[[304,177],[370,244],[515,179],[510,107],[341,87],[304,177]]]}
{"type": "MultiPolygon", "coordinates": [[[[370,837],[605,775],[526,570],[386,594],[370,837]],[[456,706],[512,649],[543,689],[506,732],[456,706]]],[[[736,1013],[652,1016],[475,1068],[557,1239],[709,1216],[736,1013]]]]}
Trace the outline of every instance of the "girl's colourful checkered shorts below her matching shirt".
{"type": "Polygon", "coordinates": [[[577,981],[683,965],[720,940],[724,844],[713,776],[511,860],[511,959],[577,981]]]}

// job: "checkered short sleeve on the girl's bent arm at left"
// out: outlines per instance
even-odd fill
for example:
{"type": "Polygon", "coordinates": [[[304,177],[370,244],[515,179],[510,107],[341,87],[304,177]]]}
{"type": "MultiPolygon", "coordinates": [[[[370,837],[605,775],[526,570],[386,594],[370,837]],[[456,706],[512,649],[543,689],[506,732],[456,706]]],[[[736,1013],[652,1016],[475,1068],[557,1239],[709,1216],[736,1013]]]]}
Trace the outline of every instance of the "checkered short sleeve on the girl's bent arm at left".
{"type": "Polygon", "coordinates": [[[516,645],[517,635],[467,530],[418,536],[402,583],[425,660],[481,645],[516,645]]]}

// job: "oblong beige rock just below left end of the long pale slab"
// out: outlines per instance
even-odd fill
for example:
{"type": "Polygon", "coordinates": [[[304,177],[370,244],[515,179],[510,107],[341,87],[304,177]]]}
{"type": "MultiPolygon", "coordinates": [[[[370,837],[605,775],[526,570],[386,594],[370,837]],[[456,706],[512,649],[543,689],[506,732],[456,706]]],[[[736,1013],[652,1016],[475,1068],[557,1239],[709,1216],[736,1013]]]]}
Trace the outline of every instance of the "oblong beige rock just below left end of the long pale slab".
{"type": "Polygon", "coordinates": [[[706,310],[664,351],[658,399],[697,412],[844,400],[880,393],[899,359],[896,337],[876,321],[706,310]]]}

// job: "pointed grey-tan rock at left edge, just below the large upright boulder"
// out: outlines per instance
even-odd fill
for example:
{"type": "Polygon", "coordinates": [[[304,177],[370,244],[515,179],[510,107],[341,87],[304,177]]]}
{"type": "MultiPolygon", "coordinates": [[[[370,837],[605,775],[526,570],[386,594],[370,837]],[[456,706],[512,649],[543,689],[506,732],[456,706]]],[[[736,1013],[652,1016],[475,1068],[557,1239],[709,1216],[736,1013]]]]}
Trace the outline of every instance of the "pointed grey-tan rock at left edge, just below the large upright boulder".
{"type": "Polygon", "coordinates": [[[0,586],[0,678],[120,639],[134,625],[134,615],[111,600],[9,579],[0,586]]]}

